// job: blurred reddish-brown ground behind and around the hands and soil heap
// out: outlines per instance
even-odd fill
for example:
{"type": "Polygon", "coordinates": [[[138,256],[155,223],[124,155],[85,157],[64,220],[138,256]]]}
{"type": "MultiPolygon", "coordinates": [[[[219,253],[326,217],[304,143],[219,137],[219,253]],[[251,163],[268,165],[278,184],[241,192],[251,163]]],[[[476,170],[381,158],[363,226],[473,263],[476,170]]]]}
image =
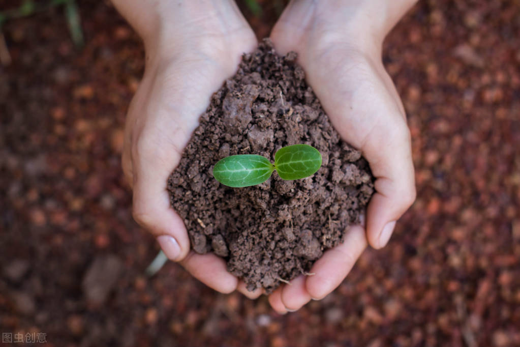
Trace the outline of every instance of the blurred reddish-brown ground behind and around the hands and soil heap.
{"type": "MultiPolygon", "coordinates": [[[[284,3],[239,2],[258,37],[284,3]]],[[[0,30],[0,331],[13,344],[520,346],[518,0],[424,0],[389,34],[417,201],[385,249],[285,316],[174,263],[145,275],[158,246],[120,166],[144,51],[110,3],[0,0],[0,30]]]]}

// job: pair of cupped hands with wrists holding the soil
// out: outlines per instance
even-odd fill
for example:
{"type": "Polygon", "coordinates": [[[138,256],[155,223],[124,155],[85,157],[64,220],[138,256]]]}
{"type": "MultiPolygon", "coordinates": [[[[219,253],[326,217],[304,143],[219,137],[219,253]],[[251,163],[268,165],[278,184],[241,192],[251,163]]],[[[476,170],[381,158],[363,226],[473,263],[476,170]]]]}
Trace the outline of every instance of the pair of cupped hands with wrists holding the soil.
{"type": "MultiPolygon", "coordinates": [[[[150,230],[171,260],[223,293],[249,298],[242,281],[214,254],[190,251],[186,228],[170,208],[166,179],[198,125],[211,95],[257,45],[231,0],[114,4],[144,38],[145,75],[128,110],[123,170],[133,187],[135,220],[150,230]]],[[[410,133],[396,89],[384,70],[381,46],[413,1],[291,2],[271,33],[279,54],[298,53],[307,81],[342,138],[361,149],[376,177],[366,225],[346,230],[345,242],[310,270],[269,295],[279,313],[319,300],[346,277],[367,246],[386,245],[397,219],[415,199],[410,133]],[[384,5],[386,4],[386,5],[384,5]],[[378,24],[370,17],[381,16],[378,24]]]]}

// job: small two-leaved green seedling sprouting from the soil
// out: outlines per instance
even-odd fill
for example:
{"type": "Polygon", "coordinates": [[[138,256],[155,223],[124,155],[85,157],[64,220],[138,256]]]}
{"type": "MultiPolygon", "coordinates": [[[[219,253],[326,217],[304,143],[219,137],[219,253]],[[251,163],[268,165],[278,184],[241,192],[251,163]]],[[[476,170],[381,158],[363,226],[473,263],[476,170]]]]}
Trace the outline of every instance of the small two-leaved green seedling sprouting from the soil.
{"type": "Polygon", "coordinates": [[[309,145],[292,145],[275,153],[275,163],[253,155],[237,155],[220,159],[213,168],[213,177],[225,186],[249,187],[267,181],[276,170],[287,181],[313,175],[321,166],[320,152],[309,145]]]}

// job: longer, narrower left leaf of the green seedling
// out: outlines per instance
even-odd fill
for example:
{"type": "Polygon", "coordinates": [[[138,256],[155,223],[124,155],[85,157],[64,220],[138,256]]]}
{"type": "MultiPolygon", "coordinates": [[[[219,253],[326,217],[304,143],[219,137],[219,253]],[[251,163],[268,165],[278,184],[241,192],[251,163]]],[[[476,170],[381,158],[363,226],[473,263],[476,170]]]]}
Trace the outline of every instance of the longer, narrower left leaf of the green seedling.
{"type": "Polygon", "coordinates": [[[248,187],[266,181],[274,170],[267,158],[246,154],[220,159],[213,168],[213,177],[228,187],[248,187]]]}

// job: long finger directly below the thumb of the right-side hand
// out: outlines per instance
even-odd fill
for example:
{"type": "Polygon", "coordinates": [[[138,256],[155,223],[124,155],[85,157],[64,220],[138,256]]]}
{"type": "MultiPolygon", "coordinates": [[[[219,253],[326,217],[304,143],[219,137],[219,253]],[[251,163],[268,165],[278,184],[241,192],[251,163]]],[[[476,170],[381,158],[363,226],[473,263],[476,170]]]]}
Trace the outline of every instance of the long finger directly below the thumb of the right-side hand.
{"type": "Polygon", "coordinates": [[[345,241],[324,252],[310,269],[314,275],[305,281],[310,297],[321,300],[339,286],[366,247],[365,230],[360,226],[350,227],[345,241]]]}

